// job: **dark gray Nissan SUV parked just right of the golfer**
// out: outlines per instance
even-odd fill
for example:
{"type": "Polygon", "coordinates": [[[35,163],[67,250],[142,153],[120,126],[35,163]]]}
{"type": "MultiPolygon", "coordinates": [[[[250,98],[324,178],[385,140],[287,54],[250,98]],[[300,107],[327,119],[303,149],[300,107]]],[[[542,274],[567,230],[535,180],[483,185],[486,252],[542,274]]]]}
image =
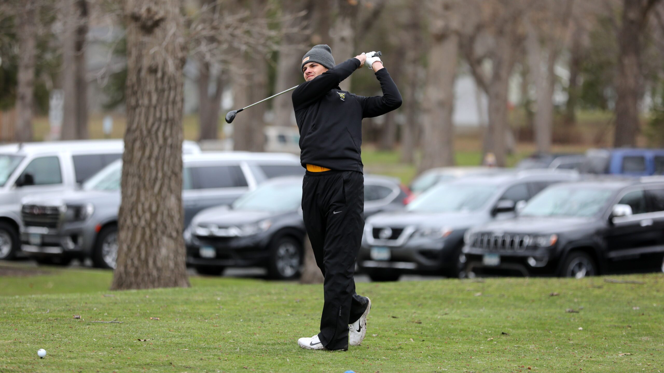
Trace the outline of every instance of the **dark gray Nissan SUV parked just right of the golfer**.
{"type": "Polygon", "coordinates": [[[576,179],[573,171],[539,170],[462,177],[436,185],[404,211],[367,219],[357,263],[374,281],[395,281],[405,272],[463,277],[459,258],[468,228],[512,218],[517,204],[544,187],[576,179]]]}

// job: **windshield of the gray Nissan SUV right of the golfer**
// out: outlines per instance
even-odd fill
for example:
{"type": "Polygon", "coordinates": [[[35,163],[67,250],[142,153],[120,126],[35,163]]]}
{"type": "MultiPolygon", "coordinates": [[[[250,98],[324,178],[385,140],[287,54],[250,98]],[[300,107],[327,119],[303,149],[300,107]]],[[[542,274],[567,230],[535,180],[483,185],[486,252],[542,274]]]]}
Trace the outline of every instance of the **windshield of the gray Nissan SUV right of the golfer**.
{"type": "Polygon", "coordinates": [[[470,212],[479,210],[496,192],[495,185],[446,183],[433,187],[410,202],[414,212],[470,212]]]}

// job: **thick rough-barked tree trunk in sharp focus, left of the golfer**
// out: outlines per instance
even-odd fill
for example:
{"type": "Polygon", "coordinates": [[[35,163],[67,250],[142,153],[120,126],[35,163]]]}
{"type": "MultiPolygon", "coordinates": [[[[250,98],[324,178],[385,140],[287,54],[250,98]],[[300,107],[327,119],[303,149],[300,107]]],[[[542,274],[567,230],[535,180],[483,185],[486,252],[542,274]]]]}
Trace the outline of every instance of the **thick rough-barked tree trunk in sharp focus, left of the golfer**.
{"type": "Polygon", "coordinates": [[[188,287],[183,240],[179,0],[127,0],[127,129],[112,289],[188,287]]]}

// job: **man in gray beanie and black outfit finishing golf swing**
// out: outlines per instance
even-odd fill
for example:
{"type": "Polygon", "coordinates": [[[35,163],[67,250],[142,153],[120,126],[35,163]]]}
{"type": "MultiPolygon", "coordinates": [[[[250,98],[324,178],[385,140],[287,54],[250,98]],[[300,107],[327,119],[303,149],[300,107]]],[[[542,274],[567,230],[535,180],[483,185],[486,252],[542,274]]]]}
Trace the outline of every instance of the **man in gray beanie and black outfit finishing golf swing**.
{"type": "Polygon", "coordinates": [[[380,58],[374,52],[368,55],[335,66],[329,46],[314,46],[302,57],[306,82],[293,91],[300,161],[307,169],[302,183],[304,224],[325,276],[321,330],[299,338],[302,348],[347,350],[367,333],[371,301],[355,293],[353,280],[365,227],[362,119],[401,106],[401,95],[380,58]],[[357,96],[339,88],[365,64],[375,72],[383,96],[357,96]]]}

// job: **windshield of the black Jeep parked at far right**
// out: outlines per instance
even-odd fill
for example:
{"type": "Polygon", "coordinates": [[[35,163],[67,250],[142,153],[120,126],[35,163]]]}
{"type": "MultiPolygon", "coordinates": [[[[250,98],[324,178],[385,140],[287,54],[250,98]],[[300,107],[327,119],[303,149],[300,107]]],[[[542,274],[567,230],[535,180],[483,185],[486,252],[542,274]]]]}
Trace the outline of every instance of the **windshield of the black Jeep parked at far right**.
{"type": "Polygon", "coordinates": [[[533,197],[519,215],[589,217],[600,212],[612,194],[604,188],[548,188],[533,197]]]}

